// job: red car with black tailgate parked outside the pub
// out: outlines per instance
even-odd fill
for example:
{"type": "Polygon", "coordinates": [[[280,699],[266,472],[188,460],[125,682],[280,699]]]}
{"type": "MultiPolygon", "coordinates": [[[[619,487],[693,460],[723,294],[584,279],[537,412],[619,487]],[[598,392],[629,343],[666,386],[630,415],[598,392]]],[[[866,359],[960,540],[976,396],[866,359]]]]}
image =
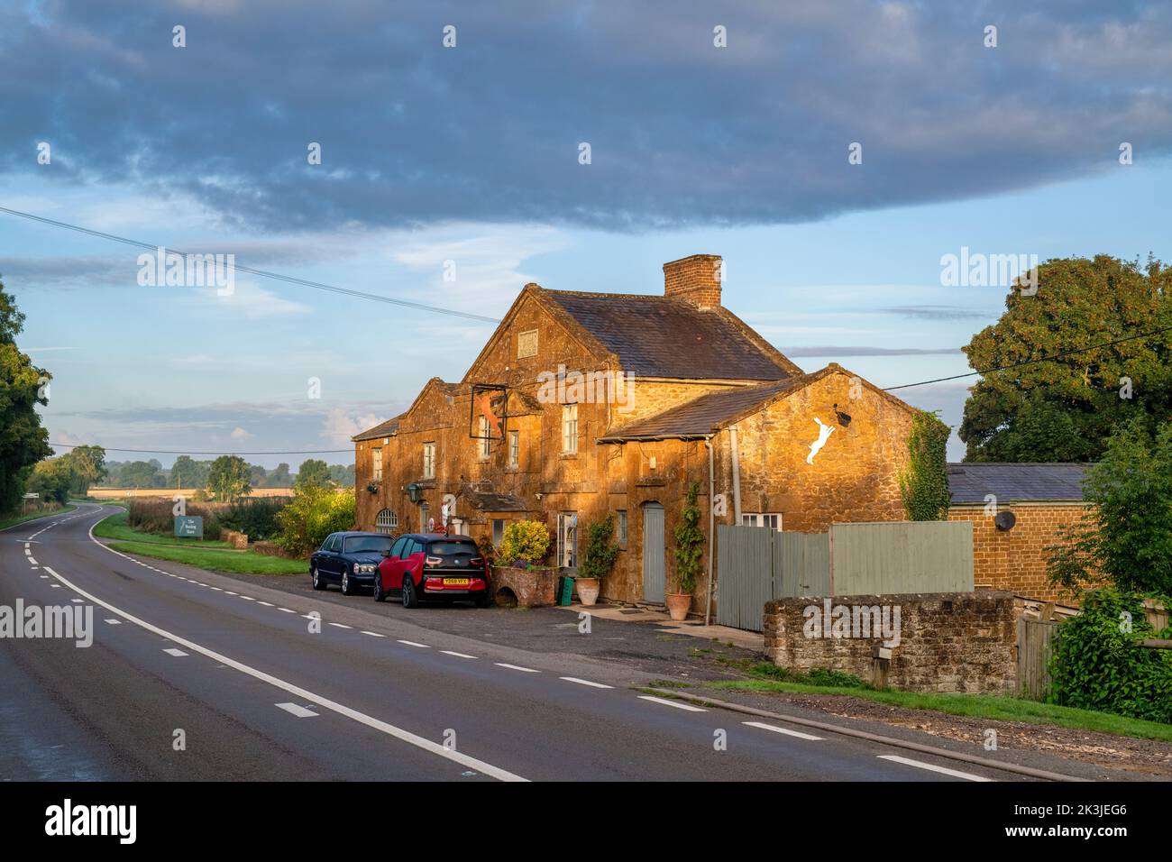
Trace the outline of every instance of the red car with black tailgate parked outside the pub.
{"type": "Polygon", "coordinates": [[[470,536],[410,532],[395,539],[374,576],[374,600],[398,597],[403,608],[420,600],[489,605],[489,562],[470,536]]]}

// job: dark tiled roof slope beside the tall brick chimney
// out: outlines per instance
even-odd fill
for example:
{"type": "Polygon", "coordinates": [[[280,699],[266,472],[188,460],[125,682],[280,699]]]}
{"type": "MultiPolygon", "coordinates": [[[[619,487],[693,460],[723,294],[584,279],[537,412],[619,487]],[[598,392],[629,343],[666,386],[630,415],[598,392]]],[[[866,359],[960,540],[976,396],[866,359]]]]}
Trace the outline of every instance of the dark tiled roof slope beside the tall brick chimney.
{"type": "Polygon", "coordinates": [[[624,372],[679,380],[778,380],[802,369],[723,307],[632,293],[533,292],[618,358],[624,372]]]}

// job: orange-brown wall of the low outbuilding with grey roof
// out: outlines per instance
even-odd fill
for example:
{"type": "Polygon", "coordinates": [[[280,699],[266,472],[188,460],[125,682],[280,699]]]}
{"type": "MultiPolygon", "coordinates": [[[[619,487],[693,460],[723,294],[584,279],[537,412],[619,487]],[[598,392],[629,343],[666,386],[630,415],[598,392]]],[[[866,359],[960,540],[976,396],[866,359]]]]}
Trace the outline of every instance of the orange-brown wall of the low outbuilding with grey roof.
{"type": "Polygon", "coordinates": [[[1058,543],[1062,524],[1078,523],[1089,509],[1089,503],[1002,505],[1000,511],[1009,510],[1017,518],[1011,530],[999,530],[982,505],[954,505],[948,520],[973,523],[973,579],[977,586],[1069,604],[1074,599],[1047,582],[1045,547],[1058,543]]]}

